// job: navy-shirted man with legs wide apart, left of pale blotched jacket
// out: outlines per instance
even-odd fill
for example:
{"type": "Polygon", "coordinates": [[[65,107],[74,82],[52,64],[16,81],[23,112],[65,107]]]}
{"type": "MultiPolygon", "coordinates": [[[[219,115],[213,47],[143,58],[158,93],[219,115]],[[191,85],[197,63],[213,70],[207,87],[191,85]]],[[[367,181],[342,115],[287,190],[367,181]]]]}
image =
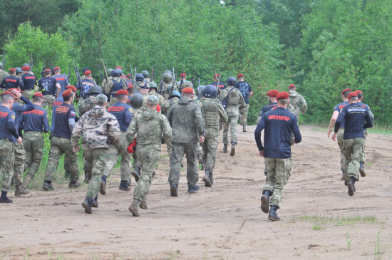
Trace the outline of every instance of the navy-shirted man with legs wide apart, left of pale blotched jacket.
{"type": "Polygon", "coordinates": [[[65,154],[66,162],[69,162],[70,182],[68,188],[80,187],[78,182],[78,153],[73,150],[71,145],[71,133],[75,127],[76,110],[71,105],[73,103],[73,92],[68,89],[62,94],[64,103],[56,108],[56,122],[53,132],[51,132],[51,150],[49,151],[48,165],[46,165],[45,182],[43,189],[51,190],[54,171],[57,168],[58,160],[65,154]]]}

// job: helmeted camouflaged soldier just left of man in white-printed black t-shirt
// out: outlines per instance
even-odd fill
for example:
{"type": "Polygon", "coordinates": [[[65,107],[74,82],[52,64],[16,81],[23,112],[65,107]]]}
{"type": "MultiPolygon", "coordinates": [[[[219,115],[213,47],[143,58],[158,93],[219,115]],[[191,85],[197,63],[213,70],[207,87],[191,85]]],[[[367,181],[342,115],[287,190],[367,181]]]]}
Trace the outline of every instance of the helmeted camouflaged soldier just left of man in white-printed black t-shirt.
{"type": "Polygon", "coordinates": [[[230,156],[235,155],[235,145],[237,145],[237,122],[239,109],[244,108],[245,102],[238,88],[234,88],[237,80],[234,77],[227,78],[227,88],[220,92],[219,100],[225,108],[228,122],[223,125],[223,152],[227,152],[227,143],[229,142],[229,128],[230,128],[230,142],[232,143],[232,150],[230,156]],[[225,105],[226,103],[226,105],[225,105]]]}

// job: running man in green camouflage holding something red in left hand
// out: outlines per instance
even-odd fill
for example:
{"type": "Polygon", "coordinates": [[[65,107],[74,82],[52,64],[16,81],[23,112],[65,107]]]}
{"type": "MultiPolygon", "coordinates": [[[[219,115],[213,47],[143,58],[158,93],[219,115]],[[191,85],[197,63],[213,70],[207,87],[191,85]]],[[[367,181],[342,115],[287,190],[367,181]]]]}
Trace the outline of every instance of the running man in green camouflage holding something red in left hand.
{"type": "Polygon", "coordinates": [[[148,109],[136,115],[125,135],[128,142],[136,138],[136,155],[143,167],[138,183],[133,191],[133,202],[128,208],[133,216],[139,217],[138,208],[147,209],[147,195],[155,177],[155,165],[159,160],[161,142],[168,142],[172,137],[172,128],[165,115],[157,112],[158,97],[150,95],[148,109]]]}

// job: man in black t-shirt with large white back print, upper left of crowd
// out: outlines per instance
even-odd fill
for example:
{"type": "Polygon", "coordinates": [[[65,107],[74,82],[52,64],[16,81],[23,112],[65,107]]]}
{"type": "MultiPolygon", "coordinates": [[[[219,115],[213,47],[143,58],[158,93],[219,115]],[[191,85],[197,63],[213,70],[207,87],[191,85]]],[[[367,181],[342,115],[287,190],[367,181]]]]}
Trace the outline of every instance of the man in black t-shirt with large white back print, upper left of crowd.
{"type": "Polygon", "coordinates": [[[51,77],[51,70],[46,68],[43,71],[43,78],[38,80],[38,88],[43,95],[42,107],[52,106],[53,101],[58,98],[58,93],[60,93],[61,86],[58,84],[56,78],[51,77]],[[57,94],[56,94],[57,93],[57,94]]]}

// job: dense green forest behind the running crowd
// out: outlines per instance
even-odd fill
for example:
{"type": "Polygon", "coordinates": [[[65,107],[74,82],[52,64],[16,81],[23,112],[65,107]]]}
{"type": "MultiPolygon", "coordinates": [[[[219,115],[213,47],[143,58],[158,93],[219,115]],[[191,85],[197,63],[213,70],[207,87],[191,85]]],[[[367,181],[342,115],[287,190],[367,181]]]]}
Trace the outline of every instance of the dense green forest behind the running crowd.
{"type": "MultiPolygon", "coordinates": [[[[290,83],[308,103],[301,122],[326,124],[341,90],[361,90],[376,123],[392,121],[392,0],[43,0],[0,2],[6,69],[33,54],[33,72],[71,58],[100,81],[98,63],[182,69],[202,84],[244,73],[249,117],[267,90],[290,83]]],[[[72,68],[71,68],[72,70],[72,68]]],[[[188,78],[189,79],[189,78],[188,78]]],[[[72,71],[71,83],[76,83],[72,71]]],[[[195,84],[197,85],[197,84],[195,84]]]]}

